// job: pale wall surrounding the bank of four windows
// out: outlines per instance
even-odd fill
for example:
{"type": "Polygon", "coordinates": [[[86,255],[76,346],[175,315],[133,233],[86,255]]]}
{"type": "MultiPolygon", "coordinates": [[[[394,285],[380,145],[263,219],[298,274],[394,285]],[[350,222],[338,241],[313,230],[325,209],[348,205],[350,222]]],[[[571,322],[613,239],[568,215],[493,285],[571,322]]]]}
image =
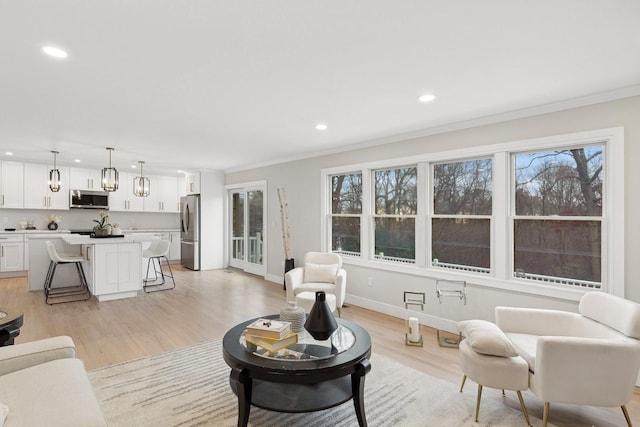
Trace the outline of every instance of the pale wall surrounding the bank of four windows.
{"type": "MultiPolygon", "coordinates": [[[[464,149],[523,139],[561,135],[623,126],[625,137],[625,296],[640,302],[640,96],[604,102],[564,111],[477,126],[437,135],[400,140],[376,147],[318,156],[274,166],[237,171],[226,175],[226,184],[266,180],[268,185],[268,219],[271,239],[268,242],[267,276],[282,277],[283,249],[279,227],[276,189],[284,187],[289,201],[292,251],[296,260],[304,253],[320,250],[321,170],[381,159],[464,149]]],[[[425,292],[427,306],[421,313],[423,323],[452,329],[455,320],[493,319],[496,305],[519,305],[575,310],[572,301],[529,294],[500,291],[470,284],[464,306],[452,299],[442,304],[435,297],[435,283],[424,277],[384,270],[345,266],[348,273],[347,301],[403,317],[403,291],[425,292]],[[367,280],[373,279],[373,287],[367,280]],[[448,319],[449,322],[441,319],[448,319]]],[[[278,280],[274,280],[278,281],[278,280]]]]}

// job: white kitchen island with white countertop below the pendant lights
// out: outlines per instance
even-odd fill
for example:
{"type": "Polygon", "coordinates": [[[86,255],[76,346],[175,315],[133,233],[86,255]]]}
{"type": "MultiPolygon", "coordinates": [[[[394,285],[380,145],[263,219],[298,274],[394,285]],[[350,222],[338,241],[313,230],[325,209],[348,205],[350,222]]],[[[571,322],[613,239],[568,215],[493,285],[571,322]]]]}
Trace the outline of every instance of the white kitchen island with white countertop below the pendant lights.
{"type": "MultiPolygon", "coordinates": [[[[46,240],[51,240],[61,253],[82,255],[89,290],[98,301],[135,297],[142,290],[142,249],[150,237],[135,234],[110,238],[78,234],[30,236],[29,290],[43,287],[50,262],[44,244],[46,240]]],[[[69,286],[78,281],[71,264],[61,265],[56,270],[52,287],[69,286]]]]}

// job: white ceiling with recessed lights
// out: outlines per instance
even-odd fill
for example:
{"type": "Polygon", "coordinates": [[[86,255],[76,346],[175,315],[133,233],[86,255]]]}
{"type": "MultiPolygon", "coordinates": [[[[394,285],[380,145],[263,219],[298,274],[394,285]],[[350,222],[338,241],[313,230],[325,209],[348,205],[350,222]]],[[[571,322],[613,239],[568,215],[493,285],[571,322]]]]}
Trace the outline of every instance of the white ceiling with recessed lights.
{"type": "Polygon", "coordinates": [[[233,170],[637,87],[640,2],[0,0],[0,54],[0,159],[233,170]]]}

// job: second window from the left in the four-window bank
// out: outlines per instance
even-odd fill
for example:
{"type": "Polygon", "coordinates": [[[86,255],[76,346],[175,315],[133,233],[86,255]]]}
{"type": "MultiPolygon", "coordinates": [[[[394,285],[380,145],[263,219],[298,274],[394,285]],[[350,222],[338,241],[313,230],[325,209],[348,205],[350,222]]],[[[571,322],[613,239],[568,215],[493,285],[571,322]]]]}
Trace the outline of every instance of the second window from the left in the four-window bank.
{"type": "Polygon", "coordinates": [[[373,178],[374,258],[415,263],[417,168],[377,170],[373,178]]]}

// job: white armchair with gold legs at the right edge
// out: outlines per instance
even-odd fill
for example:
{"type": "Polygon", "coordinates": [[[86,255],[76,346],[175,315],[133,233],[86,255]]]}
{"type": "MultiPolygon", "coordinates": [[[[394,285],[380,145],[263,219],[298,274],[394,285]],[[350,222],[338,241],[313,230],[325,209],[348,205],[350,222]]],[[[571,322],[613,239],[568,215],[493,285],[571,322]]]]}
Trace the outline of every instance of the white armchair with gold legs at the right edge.
{"type": "Polygon", "coordinates": [[[544,402],[620,406],[640,369],[640,304],[603,292],[586,293],[578,313],[496,307],[496,324],[529,365],[529,388],[544,402]]]}

